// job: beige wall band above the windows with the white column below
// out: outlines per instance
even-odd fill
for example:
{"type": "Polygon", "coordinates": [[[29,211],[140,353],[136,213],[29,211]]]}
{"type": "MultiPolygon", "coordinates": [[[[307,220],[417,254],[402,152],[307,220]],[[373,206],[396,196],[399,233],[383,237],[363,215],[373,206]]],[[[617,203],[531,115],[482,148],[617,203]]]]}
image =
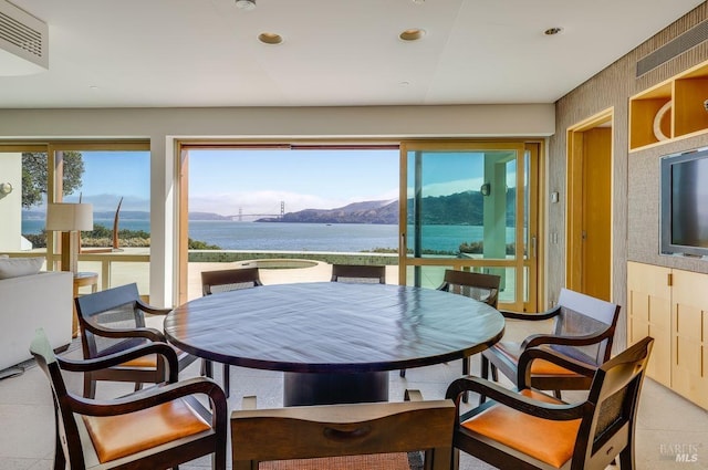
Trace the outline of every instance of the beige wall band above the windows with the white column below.
{"type": "Polygon", "coordinates": [[[42,138],[149,138],[150,301],[171,305],[176,272],[174,140],[222,138],[548,137],[553,104],[0,109],[0,143],[42,138]]]}

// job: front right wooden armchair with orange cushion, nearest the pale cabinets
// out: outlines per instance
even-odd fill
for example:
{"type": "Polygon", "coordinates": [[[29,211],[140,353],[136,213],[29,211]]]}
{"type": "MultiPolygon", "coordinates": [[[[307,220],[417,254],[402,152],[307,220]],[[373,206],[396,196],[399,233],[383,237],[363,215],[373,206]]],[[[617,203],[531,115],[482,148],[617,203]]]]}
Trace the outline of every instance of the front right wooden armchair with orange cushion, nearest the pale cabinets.
{"type": "Polygon", "coordinates": [[[622,470],[634,469],[637,406],[653,343],[646,337],[598,368],[532,347],[519,364],[519,391],[478,377],[455,380],[447,390],[458,406],[454,468],[462,451],[500,469],[604,470],[617,456],[622,470]],[[531,388],[537,361],[591,374],[587,399],[566,404],[531,388]],[[467,391],[490,400],[460,411],[467,391]]]}

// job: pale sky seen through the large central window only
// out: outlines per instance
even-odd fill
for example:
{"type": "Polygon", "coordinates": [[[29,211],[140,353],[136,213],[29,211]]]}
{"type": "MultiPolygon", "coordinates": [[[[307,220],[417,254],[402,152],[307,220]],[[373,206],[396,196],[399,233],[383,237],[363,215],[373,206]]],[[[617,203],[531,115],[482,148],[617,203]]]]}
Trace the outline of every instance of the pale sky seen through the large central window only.
{"type": "Polygon", "coordinates": [[[189,210],[332,209],[398,197],[398,150],[190,150],[189,210]]]}

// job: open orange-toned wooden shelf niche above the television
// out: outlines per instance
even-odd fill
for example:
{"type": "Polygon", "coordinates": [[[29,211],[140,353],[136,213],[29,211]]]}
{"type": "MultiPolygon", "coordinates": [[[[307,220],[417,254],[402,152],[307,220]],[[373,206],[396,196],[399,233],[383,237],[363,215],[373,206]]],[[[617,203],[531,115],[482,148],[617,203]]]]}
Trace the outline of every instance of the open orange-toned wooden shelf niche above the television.
{"type": "Polygon", "coordinates": [[[629,98],[629,150],[708,132],[708,62],[629,98]]]}

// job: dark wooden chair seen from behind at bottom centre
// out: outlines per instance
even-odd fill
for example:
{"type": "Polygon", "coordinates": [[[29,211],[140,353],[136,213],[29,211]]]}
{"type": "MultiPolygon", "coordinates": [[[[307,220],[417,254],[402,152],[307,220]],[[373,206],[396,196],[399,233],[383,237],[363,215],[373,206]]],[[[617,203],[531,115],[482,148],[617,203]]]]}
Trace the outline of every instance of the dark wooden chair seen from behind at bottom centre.
{"type": "Polygon", "coordinates": [[[231,412],[233,470],[341,468],[343,462],[352,469],[408,470],[408,459],[419,451],[421,468],[450,468],[451,400],[256,409],[254,397],[246,397],[242,408],[231,412]]]}

